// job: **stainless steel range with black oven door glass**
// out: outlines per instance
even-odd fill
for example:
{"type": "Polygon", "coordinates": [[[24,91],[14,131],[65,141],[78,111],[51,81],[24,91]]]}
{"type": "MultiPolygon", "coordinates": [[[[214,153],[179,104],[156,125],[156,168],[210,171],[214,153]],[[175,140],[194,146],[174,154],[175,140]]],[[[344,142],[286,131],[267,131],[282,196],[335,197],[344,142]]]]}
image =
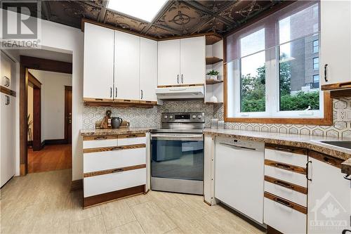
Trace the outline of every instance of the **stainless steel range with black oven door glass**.
{"type": "Polygon", "coordinates": [[[204,112],[163,113],[151,134],[151,188],[203,194],[204,112]]]}

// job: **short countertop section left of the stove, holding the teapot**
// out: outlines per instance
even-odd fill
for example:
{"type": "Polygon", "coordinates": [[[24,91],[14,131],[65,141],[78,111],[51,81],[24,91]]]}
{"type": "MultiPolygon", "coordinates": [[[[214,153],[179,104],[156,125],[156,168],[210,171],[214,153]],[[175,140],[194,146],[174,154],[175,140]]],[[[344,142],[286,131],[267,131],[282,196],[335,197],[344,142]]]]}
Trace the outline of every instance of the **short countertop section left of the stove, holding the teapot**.
{"type": "Polygon", "coordinates": [[[124,128],[124,129],[81,129],[81,136],[114,136],[124,134],[145,134],[152,128],[124,128]]]}

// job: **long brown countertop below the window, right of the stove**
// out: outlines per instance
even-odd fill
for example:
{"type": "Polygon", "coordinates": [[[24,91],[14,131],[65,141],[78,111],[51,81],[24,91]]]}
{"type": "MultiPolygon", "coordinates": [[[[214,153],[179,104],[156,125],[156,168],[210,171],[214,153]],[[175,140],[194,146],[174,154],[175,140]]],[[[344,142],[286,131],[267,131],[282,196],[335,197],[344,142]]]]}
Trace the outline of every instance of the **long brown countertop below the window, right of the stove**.
{"type": "Polygon", "coordinates": [[[276,145],[288,145],[298,148],[306,148],[317,152],[322,152],[331,157],[345,160],[341,164],[341,171],[351,174],[351,150],[327,145],[320,141],[351,141],[351,138],[335,138],[326,136],[309,136],[298,134],[277,134],[262,131],[242,131],[234,129],[204,129],[205,135],[226,136],[246,141],[261,141],[276,145]]]}

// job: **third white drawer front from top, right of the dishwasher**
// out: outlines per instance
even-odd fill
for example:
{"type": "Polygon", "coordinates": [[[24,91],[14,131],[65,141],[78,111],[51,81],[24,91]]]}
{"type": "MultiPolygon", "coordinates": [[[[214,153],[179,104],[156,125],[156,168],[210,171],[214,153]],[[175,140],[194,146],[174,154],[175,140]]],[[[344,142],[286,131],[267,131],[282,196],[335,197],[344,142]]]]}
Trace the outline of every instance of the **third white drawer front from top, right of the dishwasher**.
{"type": "Polygon", "coordinates": [[[286,188],[284,186],[279,186],[276,183],[265,181],[265,192],[272,193],[278,197],[283,197],[286,200],[307,207],[307,195],[299,193],[291,188],[286,188]]]}

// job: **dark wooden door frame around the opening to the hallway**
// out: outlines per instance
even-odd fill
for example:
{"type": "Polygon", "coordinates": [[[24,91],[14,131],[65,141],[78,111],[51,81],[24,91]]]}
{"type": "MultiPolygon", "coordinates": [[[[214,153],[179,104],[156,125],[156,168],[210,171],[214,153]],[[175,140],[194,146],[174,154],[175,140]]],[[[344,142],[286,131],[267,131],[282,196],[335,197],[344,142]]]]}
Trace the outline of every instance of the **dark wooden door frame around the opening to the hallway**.
{"type": "Polygon", "coordinates": [[[72,63],[20,56],[20,176],[28,173],[28,69],[72,74],[72,63]]]}

